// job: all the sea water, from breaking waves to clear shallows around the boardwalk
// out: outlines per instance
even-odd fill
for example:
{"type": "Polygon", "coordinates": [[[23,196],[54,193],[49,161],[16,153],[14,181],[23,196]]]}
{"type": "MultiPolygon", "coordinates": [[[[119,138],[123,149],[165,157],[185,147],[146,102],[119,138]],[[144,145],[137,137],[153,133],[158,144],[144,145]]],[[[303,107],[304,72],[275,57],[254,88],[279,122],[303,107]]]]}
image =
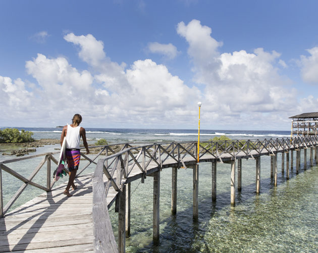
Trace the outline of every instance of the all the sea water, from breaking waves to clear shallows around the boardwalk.
{"type": "MultiPolygon", "coordinates": [[[[28,129],[35,139],[59,139],[62,129],[28,129]]],[[[98,139],[109,143],[196,141],[197,130],[136,130],[86,128],[89,145],[98,139]]],[[[232,139],[288,138],[289,131],[225,131],[200,130],[200,140],[226,135],[232,139]]],[[[0,146],[4,151],[7,147],[0,146]]],[[[37,148],[36,153],[57,151],[59,145],[37,148]]],[[[3,156],[0,160],[14,158],[3,156]]],[[[318,167],[314,161],[304,169],[301,154],[300,173],[290,170],[290,180],[281,172],[281,155],[278,156],[278,186],[270,178],[270,158],[261,157],[260,194],[255,191],[255,160],[242,160],[242,191],[236,191],[236,205],[230,205],[230,165],[218,163],[217,201],[211,200],[211,164],[199,167],[199,219],[192,219],[192,170],[178,170],[177,214],[171,214],[171,169],[161,172],[160,192],[160,244],[152,243],[152,184],[131,184],[131,236],[126,238],[126,252],[318,252],[318,167]]],[[[31,174],[39,159],[17,163],[14,169],[23,176],[31,174]],[[33,161],[34,160],[34,161],[33,161]]],[[[85,162],[81,162],[83,166],[85,162]]],[[[8,164],[9,165],[9,164],[8,164]]],[[[87,172],[92,172],[89,167],[87,172]]],[[[41,172],[41,171],[40,171],[41,172]]],[[[86,171],[85,171],[86,172],[86,171]]],[[[236,175],[237,176],[237,175],[236,175]]],[[[8,201],[22,184],[3,172],[5,199],[8,201]]],[[[43,182],[45,170],[35,182],[43,182]]],[[[237,179],[237,177],[236,177],[237,179]]],[[[63,182],[62,179],[61,183],[63,182]]],[[[41,194],[32,186],[27,187],[17,205],[41,194]]],[[[115,235],[118,214],[114,206],[110,216],[115,235]]]]}

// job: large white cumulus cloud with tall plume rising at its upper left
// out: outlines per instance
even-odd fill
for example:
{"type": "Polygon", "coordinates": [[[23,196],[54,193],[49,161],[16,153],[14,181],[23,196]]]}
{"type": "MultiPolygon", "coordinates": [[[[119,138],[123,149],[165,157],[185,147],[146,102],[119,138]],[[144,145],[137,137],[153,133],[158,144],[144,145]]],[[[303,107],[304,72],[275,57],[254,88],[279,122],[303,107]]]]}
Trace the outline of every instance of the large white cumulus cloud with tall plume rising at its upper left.
{"type": "Polygon", "coordinates": [[[177,32],[189,44],[194,81],[205,85],[202,102],[211,117],[244,121],[246,115],[254,113],[289,111],[295,103],[296,91],[287,89],[290,80],[280,76],[275,67],[282,65],[276,51],[257,48],[253,53],[220,53],[222,43],[198,20],[187,25],[180,22],[177,32]]]}

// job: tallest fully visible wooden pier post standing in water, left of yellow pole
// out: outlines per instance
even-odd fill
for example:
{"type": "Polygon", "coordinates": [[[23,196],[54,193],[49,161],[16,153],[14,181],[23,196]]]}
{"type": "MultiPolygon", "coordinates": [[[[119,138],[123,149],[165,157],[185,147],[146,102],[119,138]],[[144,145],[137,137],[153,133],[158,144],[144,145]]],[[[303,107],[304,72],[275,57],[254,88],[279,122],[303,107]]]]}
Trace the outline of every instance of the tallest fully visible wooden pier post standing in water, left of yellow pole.
{"type": "Polygon", "coordinates": [[[153,223],[152,238],[153,243],[159,243],[159,224],[160,224],[160,171],[153,173],[153,223]]]}

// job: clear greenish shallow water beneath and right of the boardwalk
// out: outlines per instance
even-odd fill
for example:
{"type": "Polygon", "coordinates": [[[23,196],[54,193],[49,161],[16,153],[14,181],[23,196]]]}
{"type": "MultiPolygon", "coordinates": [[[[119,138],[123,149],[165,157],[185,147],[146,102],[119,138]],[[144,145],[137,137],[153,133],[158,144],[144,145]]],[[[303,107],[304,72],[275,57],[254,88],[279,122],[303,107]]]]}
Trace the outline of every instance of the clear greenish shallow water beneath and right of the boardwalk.
{"type": "MultiPolygon", "coordinates": [[[[279,160],[280,161],[280,160],[279,160]]],[[[294,161],[295,162],[295,161],[294,161]]],[[[281,163],[278,163],[281,164],[281,163]]],[[[255,160],[242,161],[242,191],[230,205],[230,165],[218,163],[217,201],[211,201],[211,164],[199,168],[199,219],[192,219],[192,169],[178,170],[177,214],[171,214],[171,169],[161,172],[160,244],[152,243],[152,178],[131,184],[131,236],[126,252],[317,252],[318,167],[278,186],[270,178],[270,158],[261,157],[260,194],[255,160]]],[[[237,176],[237,175],[236,175],[237,176]]],[[[118,216],[110,210],[117,234],[118,216]]]]}

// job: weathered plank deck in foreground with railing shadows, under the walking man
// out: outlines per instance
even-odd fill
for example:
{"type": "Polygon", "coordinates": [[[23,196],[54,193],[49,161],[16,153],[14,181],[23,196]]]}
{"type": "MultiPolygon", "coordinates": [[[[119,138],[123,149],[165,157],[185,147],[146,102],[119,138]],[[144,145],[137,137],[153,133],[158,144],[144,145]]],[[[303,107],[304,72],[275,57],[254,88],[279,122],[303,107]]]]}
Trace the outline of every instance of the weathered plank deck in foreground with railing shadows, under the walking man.
{"type": "Polygon", "coordinates": [[[0,251],[93,251],[92,174],[75,180],[72,197],[65,184],[28,201],[0,219],[0,251]]]}

